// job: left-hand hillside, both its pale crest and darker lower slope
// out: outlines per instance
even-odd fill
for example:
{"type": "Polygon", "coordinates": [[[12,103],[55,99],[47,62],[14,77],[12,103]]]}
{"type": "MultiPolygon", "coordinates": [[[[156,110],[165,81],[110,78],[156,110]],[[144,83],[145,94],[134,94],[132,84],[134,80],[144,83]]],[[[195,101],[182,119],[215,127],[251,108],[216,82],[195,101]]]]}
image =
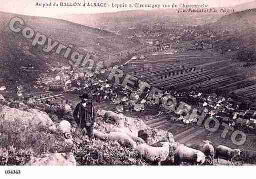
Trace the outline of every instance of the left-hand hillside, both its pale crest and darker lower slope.
{"type": "Polygon", "coordinates": [[[25,25],[30,26],[34,31],[50,36],[54,41],[57,40],[66,45],[73,44],[72,50],[77,50],[82,54],[90,53],[101,57],[135,45],[134,42],[129,42],[106,30],[60,19],[0,12],[0,59],[1,69],[7,70],[5,79],[18,81],[26,78],[27,76],[20,77],[19,68],[22,65],[32,64],[39,71],[46,70],[47,63],[54,66],[67,65],[67,60],[63,56],[58,56],[55,53],[42,53],[41,48],[30,45],[30,40],[8,30],[8,21],[14,16],[21,17],[25,21],[25,25]]]}

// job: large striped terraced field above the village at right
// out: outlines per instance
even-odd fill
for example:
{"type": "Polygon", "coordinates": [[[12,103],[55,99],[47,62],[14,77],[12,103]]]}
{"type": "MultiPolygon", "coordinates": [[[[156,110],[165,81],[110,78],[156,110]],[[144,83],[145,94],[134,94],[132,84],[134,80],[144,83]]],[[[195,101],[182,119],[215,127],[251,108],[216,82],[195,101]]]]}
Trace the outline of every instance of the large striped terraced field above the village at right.
{"type": "Polygon", "coordinates": [[[256,98],[255,66],[243,67],[214,50],[185,50],[176,54],[143,54],[121,67],[126,73],[157,87],[180,90],[222,91],[243,99],[256,98]]]}

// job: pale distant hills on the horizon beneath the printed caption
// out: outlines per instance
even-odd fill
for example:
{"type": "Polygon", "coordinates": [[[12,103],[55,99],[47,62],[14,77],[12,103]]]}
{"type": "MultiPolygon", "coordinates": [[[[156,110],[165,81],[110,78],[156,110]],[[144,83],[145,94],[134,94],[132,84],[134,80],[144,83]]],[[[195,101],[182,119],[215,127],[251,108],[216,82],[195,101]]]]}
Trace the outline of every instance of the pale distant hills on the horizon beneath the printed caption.
{"type": "MultiPolygon", "coordinates": [[[[240,5],[226,7],[241,11],[249,8],[256,8],[256,3],[248,2],[240,5]]],[[[220,8],[217,8],[220,11],[220,8]]],[[[226,13],[177,13],[177,9],[154,9],[154,10],[128,10],[97,14],[63,14],[58,18],[69,20],[75,23],[84,24],[96,28],[102,28],[115,33],[121,33],[126,28],[135,25],[150,25],[165,23],[169,28],[180,25],[200,25],[215,22],[226,13]]]]}

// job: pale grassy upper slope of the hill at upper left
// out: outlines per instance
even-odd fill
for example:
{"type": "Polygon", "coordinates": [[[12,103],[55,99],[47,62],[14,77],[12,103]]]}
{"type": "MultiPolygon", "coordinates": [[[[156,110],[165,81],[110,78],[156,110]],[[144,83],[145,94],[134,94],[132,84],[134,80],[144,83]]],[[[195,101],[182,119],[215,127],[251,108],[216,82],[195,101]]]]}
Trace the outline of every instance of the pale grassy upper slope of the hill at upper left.
{"type": "MultiPolygon", "coordinates": [[[[53,40],[58,40],[64,44],[74,44],[77,48],[92,47],[95,52],[106,53],[123,49],[129,46],[129,42],[124,41],[121,36],[106,30],[100,30],[65,20],[24,16],[11,13],[0,12],[1,39],[6,42],[7,25],[11,17],[19,16],[25,20],[25,24],[40,31],[53,40]],[[100,43],[100,47],[98,45],[100,43]]],[[[97,55],[100,55],[97,54],[97,55]]]]}

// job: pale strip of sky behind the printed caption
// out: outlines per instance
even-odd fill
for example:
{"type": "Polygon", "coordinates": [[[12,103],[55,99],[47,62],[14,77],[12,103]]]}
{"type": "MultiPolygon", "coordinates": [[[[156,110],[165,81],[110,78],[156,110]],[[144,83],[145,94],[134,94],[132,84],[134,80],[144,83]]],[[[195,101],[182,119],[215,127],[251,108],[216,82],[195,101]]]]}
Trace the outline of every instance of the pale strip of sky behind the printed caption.
{"type": "Polygon", "coordinates": [[[133,10],[133,9],[144,9],[150,10],[152,8],[114,8],[114,7],[42,7],[35,6],[38,3],[49,3],[54,2],[107,2],[111,3],[140,3],[140,4],[208,4],[209,7],[224,7],[234,6],[245,2],[251,2],[253,0],[5,0],[1,3],[0,11],[11,12],[24,15],[33,16],[45,16],[54,17],[63,14],[75,14],[75,13],[102,13],[102,12],[114,12],[121,10],[133,10]]]}

